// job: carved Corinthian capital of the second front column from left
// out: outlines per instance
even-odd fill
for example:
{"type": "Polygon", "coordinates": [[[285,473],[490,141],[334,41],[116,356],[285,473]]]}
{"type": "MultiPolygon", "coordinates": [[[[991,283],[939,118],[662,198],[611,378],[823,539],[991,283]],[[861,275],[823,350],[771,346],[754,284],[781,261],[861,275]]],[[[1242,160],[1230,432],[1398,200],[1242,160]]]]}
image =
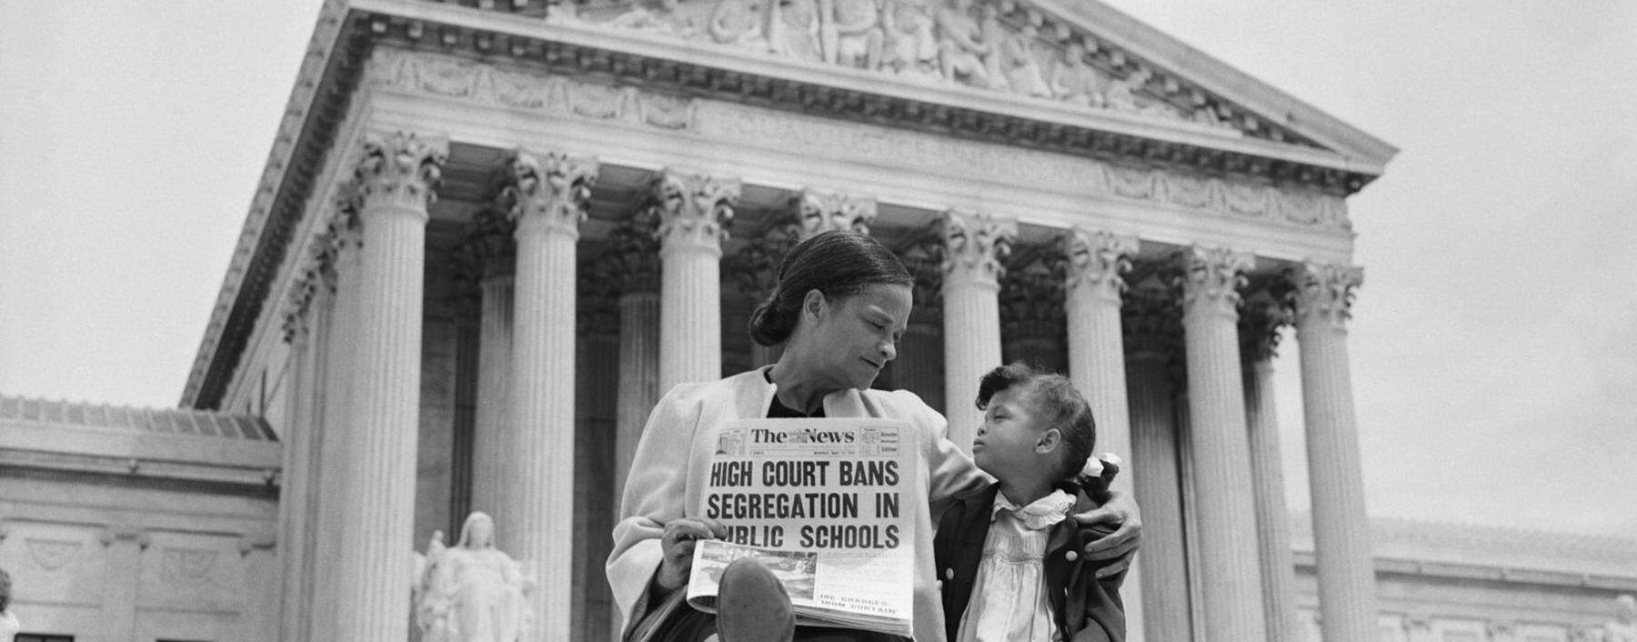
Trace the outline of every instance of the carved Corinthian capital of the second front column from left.
{"type": "Polygon", "coordinates": [[[598,179],[596,160],[517,151],[506,167],[509,179],[501,198],[519,231],[555,229],[579,236],[591,183],[598,179]]]}

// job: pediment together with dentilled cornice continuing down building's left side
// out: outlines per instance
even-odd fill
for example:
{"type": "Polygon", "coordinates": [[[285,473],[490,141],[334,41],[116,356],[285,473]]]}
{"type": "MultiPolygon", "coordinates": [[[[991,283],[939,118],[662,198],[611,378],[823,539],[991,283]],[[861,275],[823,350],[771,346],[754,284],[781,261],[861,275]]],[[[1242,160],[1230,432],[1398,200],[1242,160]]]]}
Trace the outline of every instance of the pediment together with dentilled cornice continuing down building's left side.
{"type": "Polygon", "coordinates": [[[966,2],[326,2],[182,405],[221,403],[383,44],[1337,197],[1396,152],[1094,0],[966,2]]]}

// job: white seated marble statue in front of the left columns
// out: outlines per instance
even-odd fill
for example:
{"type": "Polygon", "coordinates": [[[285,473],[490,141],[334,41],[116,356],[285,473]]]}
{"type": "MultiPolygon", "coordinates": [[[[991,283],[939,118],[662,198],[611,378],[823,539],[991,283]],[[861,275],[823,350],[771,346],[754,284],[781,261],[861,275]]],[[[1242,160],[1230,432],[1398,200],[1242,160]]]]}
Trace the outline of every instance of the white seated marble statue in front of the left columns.
{"type": "Polygon", "coordinates": [[[422,642],[516,642],[532,627],[522,567],[494,549],[494,519],[471,513],[460,540],[445,549],[442,532],[426,552],[416,622],[422,642]]]}

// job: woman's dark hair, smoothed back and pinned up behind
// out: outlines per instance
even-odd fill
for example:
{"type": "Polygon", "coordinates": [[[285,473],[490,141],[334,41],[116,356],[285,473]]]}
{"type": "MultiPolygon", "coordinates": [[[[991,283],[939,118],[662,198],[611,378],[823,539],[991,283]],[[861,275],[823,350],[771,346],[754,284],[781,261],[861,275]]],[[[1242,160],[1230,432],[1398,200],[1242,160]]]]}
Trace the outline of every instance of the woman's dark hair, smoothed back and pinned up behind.
{"type": "Polygon", "coordinates": [[[802,298],[818,290],[830,301],[853,296],[869,285],[915,285],[915,277],[874,237],[828,231],[802,241],[779,262],[779,280],[768,300],[750,313],[750,339],[776,346],[791,337],[800,318],[802,298]]]}

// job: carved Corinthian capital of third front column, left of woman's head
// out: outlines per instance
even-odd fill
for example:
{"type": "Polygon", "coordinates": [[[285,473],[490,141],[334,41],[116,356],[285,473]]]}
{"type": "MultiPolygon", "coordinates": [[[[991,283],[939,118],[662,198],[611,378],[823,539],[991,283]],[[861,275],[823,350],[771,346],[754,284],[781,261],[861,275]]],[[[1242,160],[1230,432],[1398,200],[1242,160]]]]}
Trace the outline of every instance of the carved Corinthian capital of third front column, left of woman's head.
{"type": "Polygon", "coordinates": [[[720,255],[738,188],[738,179],[660,172],[653,182],[653,215],[661,251],[686,247],[720,255]]]}

